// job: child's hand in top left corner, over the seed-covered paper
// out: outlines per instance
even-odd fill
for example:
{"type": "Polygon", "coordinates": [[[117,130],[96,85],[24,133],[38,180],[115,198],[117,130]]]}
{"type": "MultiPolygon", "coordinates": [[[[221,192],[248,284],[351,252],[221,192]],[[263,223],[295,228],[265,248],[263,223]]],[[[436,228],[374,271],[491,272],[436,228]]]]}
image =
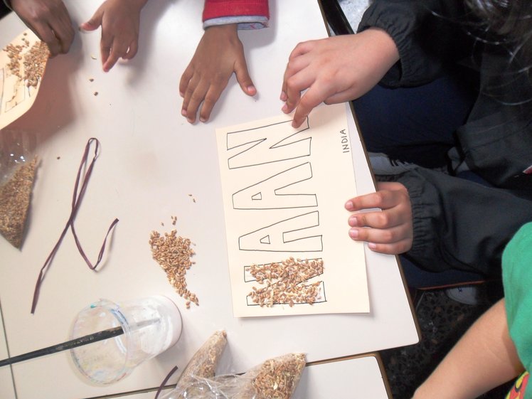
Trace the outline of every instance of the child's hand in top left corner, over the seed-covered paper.
{"type": "Polygon", "coordinates": [[[63,1],[11,0],[11,8],[46,43],[51,57],[68,52],[74,29],[63,1]]]}

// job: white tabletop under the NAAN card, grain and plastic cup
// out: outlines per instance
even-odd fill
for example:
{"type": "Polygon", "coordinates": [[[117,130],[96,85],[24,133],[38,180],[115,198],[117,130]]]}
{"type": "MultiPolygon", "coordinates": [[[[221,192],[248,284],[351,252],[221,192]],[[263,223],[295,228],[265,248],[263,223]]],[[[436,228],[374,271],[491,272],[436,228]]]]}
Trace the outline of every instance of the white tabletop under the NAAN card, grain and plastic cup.
{"type": "MultiPolygon", "coordinates": [[[[80,23],[100,1],[66,3],[80,23]]],[[[395,257],[367,248],[370,314],[233,318],[214,130],[279,115],[289,52],[299,41],[325,37],[326,31],[318,4],[270,1],[270,28],[240,34],[259,95],[243,95],[232,78],[211,122],[191,126],[180,115],[178,86],[202,34],[202,5],[197,0],[149,2],[142,11],[137,57],[110,73],[102,73],[100,61],[91,57],[99,54],[99,32],[78,34],[68,55],[49,61],[35,105],[13,124],[36,134],[40,142],[31,223],[21,251],[0,240],[0,300],[11,356],[68,339],[75,314],[100,297],[171,297],[183,316],[181,339],[129,378],[103,388],[78,378],[68,353],[17,363],[13,373],[19,399],[43,393],[50,398],[91,397],[158,386],[172,366],[182,370],[217,329],[228,332],[224,356],[230,371],[292,351],[307,353],[308,361],[321,361],[419,341],[395,257]],[[92,260],[110,222],[120,221],[97,273],[88,270],[71,235],[66,236],[46,274],[36,314],[31,315],[38,270],[68,219],[75,174],[90,137],[100,139],[102,149],[76,227],[92,260]],[[161,222],[168,230],[174,227],[171,216],[178,218],[179,235],[196,243],[196,265],[187,282],[198,294],[199,307],[185,309],[151,259],[149,233],[164,230],[161,222]],[[53,383],[58,378],[61,383],[53,383]]],[[[16,16],[4,18],[0,44],[23,28],[16,16]]],[[[358,139],[353,119],[350,134],[353,144],[358,139]]],[[[358,193],[372,191],[363,151],[355,145],[353,149],[358,193]]],[[[3,389],[2,398],[9,398],[3,389]]]]}

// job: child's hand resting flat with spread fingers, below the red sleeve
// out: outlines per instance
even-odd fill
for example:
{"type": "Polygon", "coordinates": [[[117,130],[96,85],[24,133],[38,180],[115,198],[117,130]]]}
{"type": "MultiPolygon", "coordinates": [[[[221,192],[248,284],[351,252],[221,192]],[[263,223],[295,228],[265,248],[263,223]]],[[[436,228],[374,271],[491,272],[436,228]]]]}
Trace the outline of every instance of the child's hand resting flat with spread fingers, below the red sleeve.
{"type": "Polygon", "coordinates": [[[206,122],[233,72],[245,94],[257,93],[248,73],[237,25],[207,28],[179,83],[179,94],[183,97],[181,115],[188,122],[195,122],[203,102],[199,119],[206,122]]]}

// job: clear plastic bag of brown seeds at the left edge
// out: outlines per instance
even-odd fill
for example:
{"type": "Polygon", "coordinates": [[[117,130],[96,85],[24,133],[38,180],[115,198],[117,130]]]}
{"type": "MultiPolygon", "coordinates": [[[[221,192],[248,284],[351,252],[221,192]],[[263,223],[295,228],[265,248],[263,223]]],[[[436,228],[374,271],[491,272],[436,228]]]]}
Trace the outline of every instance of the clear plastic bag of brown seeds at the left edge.
{"type": "Polygon", "coordinates": [[[36,176],[35,137],[22,130],[0,130],[0,235],[21,248],[36,176]]]}

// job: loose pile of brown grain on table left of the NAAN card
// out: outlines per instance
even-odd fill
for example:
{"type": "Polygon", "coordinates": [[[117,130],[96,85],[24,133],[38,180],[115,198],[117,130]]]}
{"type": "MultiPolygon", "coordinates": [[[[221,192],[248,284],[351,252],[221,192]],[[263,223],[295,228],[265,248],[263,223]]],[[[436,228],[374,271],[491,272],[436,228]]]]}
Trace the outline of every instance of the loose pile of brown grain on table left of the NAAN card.
{"type": "Polygon", "coordinates": [[[163,234],[154,230],[151,232],[149,245],[152,257],[166,272],[169,283],[188,302],[186,308],[190,307],[190,302],[199,306],[198,297],[188,289],[186,283],[186,271],[195,263],[191,260],[196,254],[191,248],[191,240],[177,235],[175,229],[163,234]]]}

